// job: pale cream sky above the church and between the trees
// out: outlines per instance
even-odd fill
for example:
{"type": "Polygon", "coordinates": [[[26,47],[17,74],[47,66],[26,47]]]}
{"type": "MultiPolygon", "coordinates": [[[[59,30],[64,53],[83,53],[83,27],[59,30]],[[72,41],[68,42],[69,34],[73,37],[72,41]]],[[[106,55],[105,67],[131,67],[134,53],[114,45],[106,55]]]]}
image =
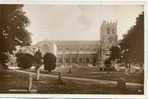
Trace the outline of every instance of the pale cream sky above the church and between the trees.
{"type": "Polygon", "coordinates": [[[104,20],[116,22],[118,38],[135,25],[143,5],[24,5],[32,42],[42,40],[99,40],[104,20]]]}

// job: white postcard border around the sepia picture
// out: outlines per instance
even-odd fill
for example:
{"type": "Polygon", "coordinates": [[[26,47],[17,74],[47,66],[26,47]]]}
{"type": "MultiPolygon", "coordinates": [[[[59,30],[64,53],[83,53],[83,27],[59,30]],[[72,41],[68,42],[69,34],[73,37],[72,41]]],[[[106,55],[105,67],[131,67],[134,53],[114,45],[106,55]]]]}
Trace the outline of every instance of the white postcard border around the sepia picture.
{"type": "Polygon", "coordinates": [[[144,95],[104,95],[104,94],[0,94],[0,98],[130,98],[130,99],[148,99],[148,2],[146,0],[0,0],[0,4],[90,4],[90,5],[144,5],[145,20],[145,66],[144,66],[144,95]]]}

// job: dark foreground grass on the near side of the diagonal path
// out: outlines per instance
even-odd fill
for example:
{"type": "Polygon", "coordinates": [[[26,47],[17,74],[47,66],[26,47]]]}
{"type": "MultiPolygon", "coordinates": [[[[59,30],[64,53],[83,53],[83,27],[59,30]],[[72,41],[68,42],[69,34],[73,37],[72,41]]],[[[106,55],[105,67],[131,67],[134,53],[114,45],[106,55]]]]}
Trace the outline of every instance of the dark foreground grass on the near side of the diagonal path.
{"type": "MultiPolygon", "coordinates": [[[[27,74],[5,71],[0,72],[0,79],[0,93],[13,93],[9,90],[27,89],[28,86],[27,74]]],[[[81,81],[74,80],[64,80],[63,82],[63,84],[59,84],[56,78],[42,77],[40,81],[33,80],[32,89],[36,89],[37,93],[41,94],[143,94],[142,87],[119,89],[111,84],[90,84],[87,82],[84,83],[81,81]]]]}

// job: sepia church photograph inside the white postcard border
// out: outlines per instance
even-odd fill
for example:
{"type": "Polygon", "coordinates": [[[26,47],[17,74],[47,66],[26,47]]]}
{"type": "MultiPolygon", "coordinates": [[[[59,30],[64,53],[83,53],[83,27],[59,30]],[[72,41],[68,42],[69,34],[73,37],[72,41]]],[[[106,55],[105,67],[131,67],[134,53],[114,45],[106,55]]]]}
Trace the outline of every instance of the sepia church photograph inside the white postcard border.
{"type": "Polygon", "coordinates": [[[134,3],[0,4],[0,94],[144,95],[144,15],[134,3]]]}

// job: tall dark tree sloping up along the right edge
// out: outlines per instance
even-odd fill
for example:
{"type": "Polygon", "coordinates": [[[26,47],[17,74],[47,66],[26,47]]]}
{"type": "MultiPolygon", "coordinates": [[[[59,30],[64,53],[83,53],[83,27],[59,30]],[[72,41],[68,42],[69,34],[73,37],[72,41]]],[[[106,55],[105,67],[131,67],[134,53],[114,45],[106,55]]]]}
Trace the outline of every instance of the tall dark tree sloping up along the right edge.
{"type": "Polygon", "coordinates": [[[136,25],[124,35],[120,46],[128,64],[144,64],[144,13],[137,17],[136,25]]]}

